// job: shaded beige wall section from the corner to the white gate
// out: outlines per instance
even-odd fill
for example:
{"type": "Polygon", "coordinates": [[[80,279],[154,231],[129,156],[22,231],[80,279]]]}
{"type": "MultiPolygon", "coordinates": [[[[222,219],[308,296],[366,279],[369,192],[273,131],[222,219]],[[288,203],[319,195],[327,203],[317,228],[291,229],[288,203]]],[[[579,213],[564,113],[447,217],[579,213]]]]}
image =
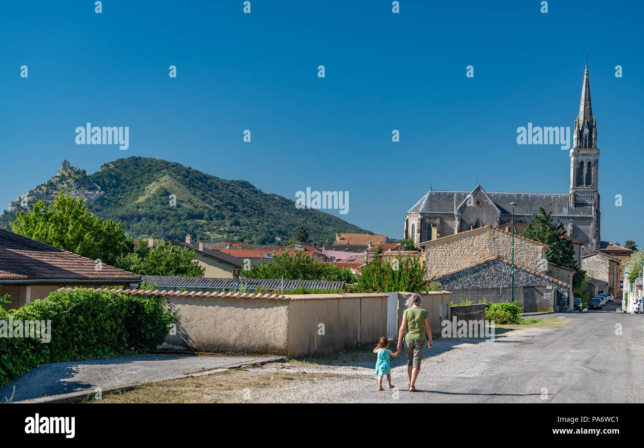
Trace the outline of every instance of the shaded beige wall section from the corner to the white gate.
{"type": "Polygon", "coordinates": [[[328,355],[386,336],[387,295],[323,296],[328,298],[289,296],[289,356],[328,355]]]}

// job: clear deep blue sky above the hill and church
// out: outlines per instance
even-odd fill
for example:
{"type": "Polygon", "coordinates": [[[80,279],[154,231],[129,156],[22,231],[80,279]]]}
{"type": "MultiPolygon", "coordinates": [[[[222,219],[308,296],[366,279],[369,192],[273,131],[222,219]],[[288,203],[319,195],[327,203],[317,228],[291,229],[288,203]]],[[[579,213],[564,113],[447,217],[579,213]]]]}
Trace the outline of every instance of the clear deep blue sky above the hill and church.
{"type": "Polygon", "coordinates": [[[242,0],[102,8],[3,6],[0,209],[63,159],[92,173],[139,155],[293,200],[307,187],[349,191],[349,213],[330,213],[401,238],[430,183],[472,190],[478,173],[487,191],[568,191],[567,151],[519,146],[516,128],[573,126],[588,50],[601,239],[644,246],[641,3],[550,1],[547,14],[533,0],[401,0],[400,14],[381,0],[251,0],[251,14],[242,0]],[[129,149],[75,144],[86,122],[129,126],[129,149]]]}

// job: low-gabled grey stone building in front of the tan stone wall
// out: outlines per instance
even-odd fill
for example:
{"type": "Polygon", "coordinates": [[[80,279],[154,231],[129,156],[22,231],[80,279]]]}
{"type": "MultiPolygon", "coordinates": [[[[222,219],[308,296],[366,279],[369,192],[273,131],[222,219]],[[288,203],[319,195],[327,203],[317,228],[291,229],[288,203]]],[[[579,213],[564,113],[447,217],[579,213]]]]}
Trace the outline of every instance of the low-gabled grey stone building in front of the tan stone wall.
{"type": "MultiPolygon", "coordinates": [[[[459,303],[472,300],[478,303],[498,303],[511,300],[512,262],[494,256],[455,269],[435,278],[442,289],[451,292],[451,300],[459,303]]],[[[573,298],[572,283],[562,282],[522,264],[514,265],[514,300],[524,313],[537,311],[567,311],[573,298]]]]}

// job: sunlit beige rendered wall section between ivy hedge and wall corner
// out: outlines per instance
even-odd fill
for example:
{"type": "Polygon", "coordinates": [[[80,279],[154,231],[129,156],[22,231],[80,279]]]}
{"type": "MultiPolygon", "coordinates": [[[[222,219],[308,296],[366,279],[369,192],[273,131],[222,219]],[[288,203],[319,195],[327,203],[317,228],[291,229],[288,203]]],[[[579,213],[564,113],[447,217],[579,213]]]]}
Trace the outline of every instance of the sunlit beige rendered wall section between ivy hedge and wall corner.
{"type": "Polygon", "coordinates": [[[286,355],[289,300],[169,297],[181,317],[164,342],[213,353],[286,355]]]}

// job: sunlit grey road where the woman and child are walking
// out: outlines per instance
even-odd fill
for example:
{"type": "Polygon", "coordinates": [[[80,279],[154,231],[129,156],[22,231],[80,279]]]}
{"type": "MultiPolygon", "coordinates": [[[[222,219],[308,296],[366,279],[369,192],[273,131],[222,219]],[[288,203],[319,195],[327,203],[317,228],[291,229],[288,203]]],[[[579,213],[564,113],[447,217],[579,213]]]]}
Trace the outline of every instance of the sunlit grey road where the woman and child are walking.
{"type": "MultiPolygon", "coordinates": [[[[497,333],[493,342],[439,338],[425,351],[416,393],[405,388],[403,351],[392,361],[393,384],[401,387],[398,393],[376,391],[374,358],[372,362],[308,366],[306,376],[311,378],[317,371],[342,376],[306,387],[302,383],[267,387],[254,393],[253,401],[644,402],[644,315],[616,313],[618,307],[621,301],[601,311],[533,317],[565,317],[569,323],[497,333]]],[[[273,364],[262,367],[278,368],[273,364]]],[[[301,367],[290,369],[295,372],[301,367]]]]}

